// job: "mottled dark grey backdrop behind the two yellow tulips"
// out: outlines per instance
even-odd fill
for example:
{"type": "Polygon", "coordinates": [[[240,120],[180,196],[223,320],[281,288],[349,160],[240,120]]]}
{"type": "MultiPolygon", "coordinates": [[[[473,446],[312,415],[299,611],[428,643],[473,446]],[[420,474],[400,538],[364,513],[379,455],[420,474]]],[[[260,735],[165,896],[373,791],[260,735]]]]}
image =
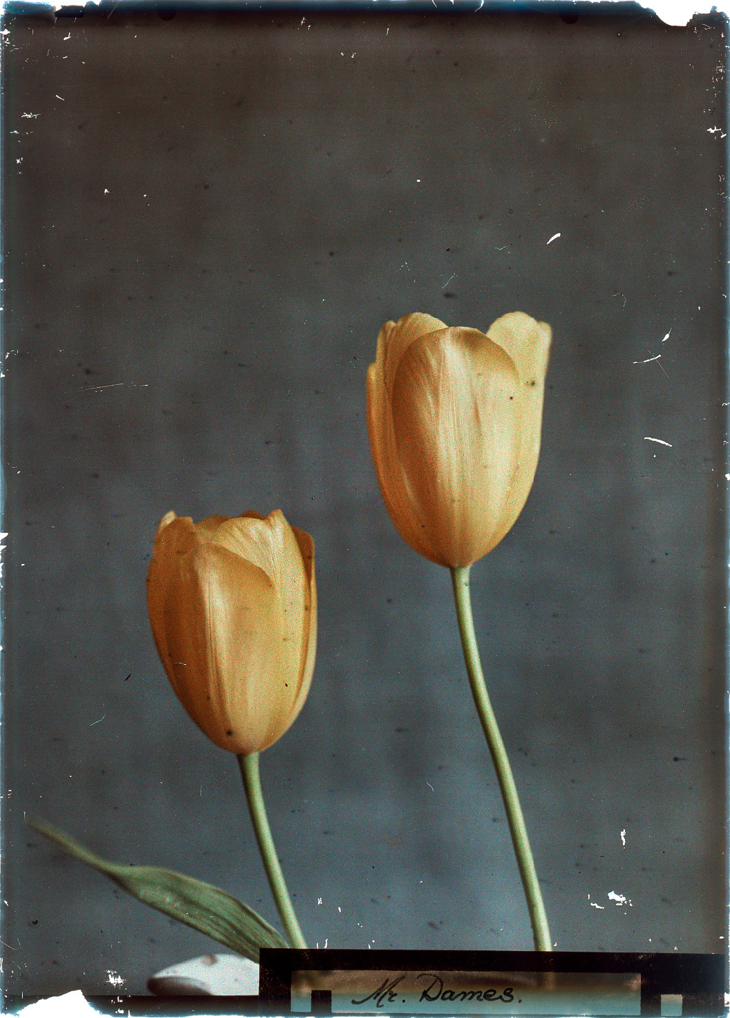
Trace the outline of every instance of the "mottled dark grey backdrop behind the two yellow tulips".
{"type": "Polygon", "coordinates": [[[315,681],[262,758],[310,944],[531,946],[449,575],[371,463],[366,370],[415,309],[554,328],[536,484],[472,573],[553,939],[724,950],[725,22],[7,26],[6,992],[215,950],[25,811],[275,920],[235,760],[151,638],[171,508],[315,538],[315,681]]]}

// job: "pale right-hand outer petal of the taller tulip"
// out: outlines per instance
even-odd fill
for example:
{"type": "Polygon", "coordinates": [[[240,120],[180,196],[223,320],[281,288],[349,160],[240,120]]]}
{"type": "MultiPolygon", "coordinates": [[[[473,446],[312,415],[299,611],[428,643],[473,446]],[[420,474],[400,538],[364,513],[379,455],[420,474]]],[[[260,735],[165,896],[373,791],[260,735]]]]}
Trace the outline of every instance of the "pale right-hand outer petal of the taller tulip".
{"type": "Polygon", "coordinates": [[[514,360],[522,389],[517,470],[509,500],[498,526],[499,539],[519,516],[535,479],[540,457],[545,376],[548,371],[552,330],[547,322],[536,322],[523,312],[504,315],[489,328],[489,337],[514,360]]]}

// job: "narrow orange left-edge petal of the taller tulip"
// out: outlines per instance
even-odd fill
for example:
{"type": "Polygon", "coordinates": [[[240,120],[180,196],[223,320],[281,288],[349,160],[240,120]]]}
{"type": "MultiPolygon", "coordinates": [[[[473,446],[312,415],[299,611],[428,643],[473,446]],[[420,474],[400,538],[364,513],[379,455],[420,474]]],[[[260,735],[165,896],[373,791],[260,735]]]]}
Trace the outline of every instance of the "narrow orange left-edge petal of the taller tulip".
{"type": "Polygon", "coordinates": [[[438,565],[448,565],[431,544],[424,524],[413,511],[398,459],[390,398],[386,392],[379,363],[371,364],[368,369],[367,407],[373,463],[390,518],[403,541],[410,545],[414,552],[438,565]]]}

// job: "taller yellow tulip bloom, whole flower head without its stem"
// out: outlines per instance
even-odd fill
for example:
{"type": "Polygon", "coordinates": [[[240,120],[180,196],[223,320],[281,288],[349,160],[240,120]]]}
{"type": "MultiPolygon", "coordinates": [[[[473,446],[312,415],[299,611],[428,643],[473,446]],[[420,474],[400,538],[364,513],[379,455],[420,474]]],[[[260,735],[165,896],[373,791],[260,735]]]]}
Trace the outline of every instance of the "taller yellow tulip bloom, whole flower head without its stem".
{"type": "Polygon", "coordinates": [[[522,312],[485,335],[430,315],[386,322],[368,370],[368,431],[391,519],[450,568],[499,544],[540,453],[550,326],[522,312]]]}

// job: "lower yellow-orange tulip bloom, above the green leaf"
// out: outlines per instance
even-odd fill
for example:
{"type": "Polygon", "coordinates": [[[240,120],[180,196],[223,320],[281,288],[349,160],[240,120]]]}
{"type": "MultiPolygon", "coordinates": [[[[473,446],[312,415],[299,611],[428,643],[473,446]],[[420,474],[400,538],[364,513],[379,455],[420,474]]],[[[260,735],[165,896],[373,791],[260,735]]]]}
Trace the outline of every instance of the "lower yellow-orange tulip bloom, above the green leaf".
{"type": "Polygon", "coordinates": [[[317,646],[315,546],[276,510],[155,535],[148,606],[157,649],[189,716],[223,749],[266,749],[293,724],[317,646]]]}

